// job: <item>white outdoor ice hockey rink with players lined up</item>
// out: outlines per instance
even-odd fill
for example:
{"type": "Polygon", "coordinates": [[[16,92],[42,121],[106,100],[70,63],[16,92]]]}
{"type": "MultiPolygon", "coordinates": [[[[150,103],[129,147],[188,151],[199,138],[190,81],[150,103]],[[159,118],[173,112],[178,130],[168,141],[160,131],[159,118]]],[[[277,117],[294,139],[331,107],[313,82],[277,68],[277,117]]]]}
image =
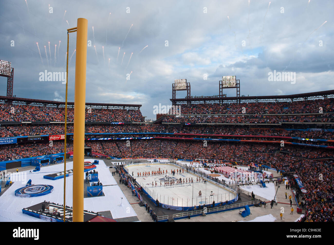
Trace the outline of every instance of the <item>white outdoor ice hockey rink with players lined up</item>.
{"type": "MultiPolygon", "coordinates": [[[[178,169],[180,170],[180,167],[178,169]]],[[[192,207],[194,205],[212,204],[213,201],[215,201],[215,203],[221,201],[226,202],[226,200],[230,201],[236,197],[233,191],[229,188],[222,188],[209,181],[204,183],[202,178],[200,178],[200,182],[196,182],[197,175],[190,172],[187,173],[186,170],[183,170],[183,173],[177,173],[177,166],[173,164],[143,163],[139,165],[128,165],[126,166],[126,170],[131,176],[133,172],[133,177],[142,187],[144,187],[154,200],[158,199],[160,203],[166,205],[192,207]],[[164,171],[165,174],[152,176],[152,171],[158,171],[159,168],[161,171],[164,171]],[[176,173],[175,176],[172,176],[171,171],[174,169],[176,173]],[[169,180],[175,180],[174,185],[165,186],[166,170],[169,180]],[[150,171],[150,176],[143,177],[143,172],[148,171],[150,171]],[[141,173],[141,176],[139,177],[138,172],[141,173]],[[176,180],[180,178],[182,179],[182,184],[176,184],[176,180]],[[186,183],[186,178],[188,179],[188,183],[186,183]],[[190,180],[193,178],[193,183],[191,183],[191,181],[189,183],[189,178],[190,180]],[[183,179],[185,180],[184,184],[183,179]],[[155,185],[155,182],[157,182],[157,185],[155,185]],[[198,194],[199,191],[202,192],[201,197],[198,194]]]]}

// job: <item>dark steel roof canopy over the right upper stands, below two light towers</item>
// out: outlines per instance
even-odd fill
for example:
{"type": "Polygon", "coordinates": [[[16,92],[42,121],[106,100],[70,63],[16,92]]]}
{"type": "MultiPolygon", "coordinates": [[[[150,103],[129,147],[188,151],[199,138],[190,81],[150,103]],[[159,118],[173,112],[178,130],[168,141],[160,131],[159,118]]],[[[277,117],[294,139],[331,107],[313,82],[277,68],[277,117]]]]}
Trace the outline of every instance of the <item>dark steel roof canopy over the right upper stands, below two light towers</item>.
{"type": "Polygon", "coordinates": [[[242,96],[242,97],[219,97],[219,96],[191,96],[190,98],[170,99],[173,105],[181,103],[206,103],[206,102],[277,102],[277,101],[294,101],[334,97],[334,90],[319,92],[291,94],[291,95],[265,95],[265,96],[242,96]]]}

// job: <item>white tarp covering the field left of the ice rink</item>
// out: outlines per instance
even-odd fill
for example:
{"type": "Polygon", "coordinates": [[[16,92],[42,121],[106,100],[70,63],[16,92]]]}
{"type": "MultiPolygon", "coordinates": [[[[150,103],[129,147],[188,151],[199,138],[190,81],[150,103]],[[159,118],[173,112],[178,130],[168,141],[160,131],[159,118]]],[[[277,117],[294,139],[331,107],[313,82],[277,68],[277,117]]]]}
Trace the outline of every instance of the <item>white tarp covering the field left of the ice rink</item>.
{"type": "MultiPolygon", "coordinates": [[[[94,162],[93,159],[85,159],[85,161],[94,162]]],[[[82,163],[83,164],[83,163],[82,163]]],[[[66,163],[66,169],[72,169],[72,162],[66,163]]],[[[114,177],[109,171],[109,167],[106,166],[103,160],[99,160],[99,164],[96,165],[96,171],[99,172],[99,180],[104,185],[103,192],[105,196],[101,197],[90,197],[84,199],[84,209],[88,211],[101,212],[101,211],[111,211],[113,218],[124,218],[137,216],[130,203],[126,199],[120,187],[117,185],[114,177]],[[111,186],[105,186],[111,185],[111,186]],[[121,204],[121,198],[122,206],[121,204]]],[[[6,190],[3,195],[0,196],[0,222],[39,222],[42,219],[37,219],[26,214],[22,214],[22,208],[27,208],[29,206],[35,205],[37,203],[45,201],[50,201],[63,204],[63,193],[64,193],[64,179],[49,180],[44,179],[43,176],[47,174],[52,174],[56,172],[63,171],[64,164],[57,164],[51,166],[41,167],[39,172],[29,171],[14,173],[11,176],[12,180],[17,180],[17,176],[21,176],[22,181],[14,181],[11,187],[6,190]],[[16,175],[16,177],[14,176],[16,175]],[[24,176],[26,178],[23,181],[24,176]],[[31,179],[32,184],[44,184],[52,185],[53,192],[50,194],[39,196],[39,197],[17,197],[15,196],[15,190],[21,187],[25,187],[26,182],[31,179]]],[[[86,178],[86,173],[82,173],[82,181],[86,178]]],[[[66,180],[70,178],[66,177],[66,180]]],[[[67,187],[67,184],[66,184],[67,187]]],[[[66,190],[66,195],[68,191],[66,190]]]]}

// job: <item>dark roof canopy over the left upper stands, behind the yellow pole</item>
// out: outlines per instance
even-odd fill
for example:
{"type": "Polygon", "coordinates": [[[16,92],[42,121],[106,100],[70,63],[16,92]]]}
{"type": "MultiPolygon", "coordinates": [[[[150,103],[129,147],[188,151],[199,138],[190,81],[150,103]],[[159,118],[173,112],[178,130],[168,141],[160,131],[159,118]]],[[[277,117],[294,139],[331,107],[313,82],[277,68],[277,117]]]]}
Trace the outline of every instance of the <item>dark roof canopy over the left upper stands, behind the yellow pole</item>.
{"type": "MultiPolygon", "coordinates": [[[[25,104],[25,105],[43,105],[43,106],[56,106],[56,107],[65,106],[65,102],[61,102],[61,101],[36,100],[36,99],[26,99],[26,98],[7,97],[7,96],[0,96],[0,102],[9,103],[9,104],[15,103],[15,104],[25,104]]],[[[67,105],[70,107],[73,107],[74,102],[67,102],[67,105]]],[[[90,106],[92,108],[138,109],[139,110],[139,108],[142,105],[87,103],[86,102],[86,106],[90,106]]]]}

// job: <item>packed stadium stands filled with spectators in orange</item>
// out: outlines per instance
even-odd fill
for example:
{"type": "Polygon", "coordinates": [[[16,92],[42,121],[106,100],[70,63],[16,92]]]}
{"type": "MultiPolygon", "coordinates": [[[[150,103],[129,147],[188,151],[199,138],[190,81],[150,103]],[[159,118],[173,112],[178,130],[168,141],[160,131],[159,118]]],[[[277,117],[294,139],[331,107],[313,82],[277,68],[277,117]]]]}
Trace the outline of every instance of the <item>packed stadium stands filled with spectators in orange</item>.
{"type": "MultiPolygon", "coordinates": [[[[50,147],[48,138],[64,134],[62,102],[29,101],[16,98],[0,104],[0,136],[17,137],[16,144],[0,145],[0,161],[63,152],[63,140],[55,140],[50,147]],[[26,138],[36,135],[40,139],[26,138]]],[[[334,221],[333,98],[181,104],[181,116],[164,115],[154,124],[144,122],[141,105],[91,106],[86,109],[85,144],[94,153],[254,163],[282,171],[289,179],[298,174],[309,190],[304,194],[296,188],[306,210],[301,221],[334,221]],[[320,172],[323,180],[317,177],[320,172]]],[[[67,113],[66,148],[72,151],[73,109],[67,113]]]]}

